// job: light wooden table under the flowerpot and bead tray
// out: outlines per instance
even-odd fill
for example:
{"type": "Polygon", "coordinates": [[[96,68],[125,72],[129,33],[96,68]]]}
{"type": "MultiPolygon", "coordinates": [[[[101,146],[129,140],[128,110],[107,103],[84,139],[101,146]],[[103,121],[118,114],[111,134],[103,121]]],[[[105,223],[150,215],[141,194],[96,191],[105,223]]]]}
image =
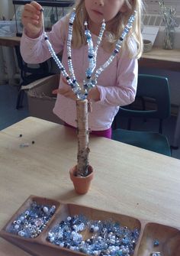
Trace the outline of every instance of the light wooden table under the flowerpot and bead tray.
{"type": "MultiPolygon", "coordinates": [[[[92,137],[95,178],[90,191],[79,196],[69,179],[76,164],[74,129],[25,118],[0,132],[0,145],[0,228],[31,194],[180,228],[180,160],[92,137]],[[24,142],[29,147],[20,147],[24,142]]],[[[1,256],[29,255],[2,238],[0,251],[1,256]]]]}

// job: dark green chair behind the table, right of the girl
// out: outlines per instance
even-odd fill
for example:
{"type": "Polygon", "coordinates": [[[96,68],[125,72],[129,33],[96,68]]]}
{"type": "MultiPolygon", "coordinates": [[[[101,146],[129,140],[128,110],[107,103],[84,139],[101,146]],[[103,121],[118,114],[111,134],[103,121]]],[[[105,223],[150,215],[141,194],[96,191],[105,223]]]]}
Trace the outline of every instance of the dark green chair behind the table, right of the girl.
{"type": "Polygon", "coordinates": [[[135,105],[137,106],[136,109],[134,108],[134,103],[126,107],[120,107],[119,112],[114,118],[112,139],[171,156],[169,141],[162,134],[162,122],[170,116],[168,79],[162,76],[139,74],[135,105]],[[137,101],[139,102],[138,105],[136,105],[137,101]],[[150,102],[149,105],[153,105],[153,109],[146,108],[146,102],[150,102]],[[142,105],[141,108],[140,105],[142,105]],[[147,118],[159,119],[159,131],[132,131],[117,128],[121,117],[129,119],[129,129],[132,118],[143,118],[144,120],[147,118]]]}

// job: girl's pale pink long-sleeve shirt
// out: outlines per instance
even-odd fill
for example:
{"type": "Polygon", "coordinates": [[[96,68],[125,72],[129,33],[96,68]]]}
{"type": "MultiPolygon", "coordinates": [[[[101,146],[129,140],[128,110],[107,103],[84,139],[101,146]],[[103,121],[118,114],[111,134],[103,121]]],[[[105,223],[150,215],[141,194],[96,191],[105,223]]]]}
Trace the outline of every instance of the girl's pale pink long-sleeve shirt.
{"type": "MultiPolygon", "coordinates": [[[[66,17],[59,20],[53,25],[52,31],[47,34],[55,52],[59,53],[63,50],[62,63],[68,71],[66,47],[68,29],[66,21],[66,17]]],[[[94,43],[97,39],[98,37],[92,34],[94,43]]],[[[134,50],[136,50],[136,46],[134,46],[134,50]]],[[[21,37],[21,55],[26,63],[41,63],[49,59],[51,56],[43,34],[31,39],[23,33],[21,37]]],[[[98,68],[108,60],[111,53],[107,53],[102,47],[99,47],[97,55],[96,67],[98,68]]],[[[85,79],[85,70],[88,67],[87,45],[79,49],[72,48],[72,64],[76,79],[82,82],[85,79]]],[[[92,112],[88,114],[88,128],[92,131],[103,131],[111,127],[119,106],[130,104],[136,96],[137,73],[137,59],[130,59],[127,51],[117,54],[98,77],[100,100],[92,102],[92,112]]],[[[68,85],[60,78],[59,88],[64,86],[68,85]]],[[[76,102],[74,100],[58,94],[53,112],[67,124],[76,127],[76,102]]]]}

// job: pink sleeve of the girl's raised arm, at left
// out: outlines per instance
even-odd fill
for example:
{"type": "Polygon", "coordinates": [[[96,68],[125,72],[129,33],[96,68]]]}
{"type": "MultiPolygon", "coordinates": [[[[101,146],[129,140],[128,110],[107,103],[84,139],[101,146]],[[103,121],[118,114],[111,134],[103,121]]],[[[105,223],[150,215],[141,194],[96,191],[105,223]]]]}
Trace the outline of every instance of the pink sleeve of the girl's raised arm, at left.
{"type": "MultiPolygon", "coordinates": [[[[47,32],[47,36],[56,53],[63,50],[66,41],[66,17],[57,21],[53,25],[52,31],[47,32]]],[[[21,56],[26,63],[42,63],[51,57],[47,43],[44,40],[43,32],[39,37],[32,39],[27,37],[26,32],[23,31],[20,50],[21,56]]]]}

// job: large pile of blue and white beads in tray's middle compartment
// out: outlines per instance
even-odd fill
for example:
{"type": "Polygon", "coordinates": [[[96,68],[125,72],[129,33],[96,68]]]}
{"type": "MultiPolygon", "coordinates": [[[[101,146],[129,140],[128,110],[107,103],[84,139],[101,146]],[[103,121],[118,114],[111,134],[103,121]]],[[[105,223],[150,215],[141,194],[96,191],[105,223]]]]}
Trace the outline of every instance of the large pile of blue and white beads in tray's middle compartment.
{"type": "Polygon", "coordinates": [[[130,230],[111,220],[88,220],[84,215],[74,215],[55,225],[48,233],[47,241],[90,255],[130,256],[139,235],[138,228],[130,230]]]}

